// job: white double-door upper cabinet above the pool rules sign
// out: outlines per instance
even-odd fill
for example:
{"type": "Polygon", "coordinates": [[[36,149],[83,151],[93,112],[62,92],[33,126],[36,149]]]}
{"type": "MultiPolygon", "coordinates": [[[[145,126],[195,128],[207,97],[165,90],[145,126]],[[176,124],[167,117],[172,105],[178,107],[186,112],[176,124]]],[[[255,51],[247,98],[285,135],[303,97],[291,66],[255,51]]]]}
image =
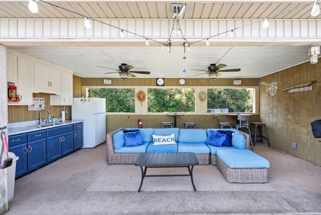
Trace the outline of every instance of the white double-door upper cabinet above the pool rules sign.
{"type": "Polygon", "coordinates": [[[61,70],[51,65],[35,62],[34,93],[61,94],[61,70]]]}

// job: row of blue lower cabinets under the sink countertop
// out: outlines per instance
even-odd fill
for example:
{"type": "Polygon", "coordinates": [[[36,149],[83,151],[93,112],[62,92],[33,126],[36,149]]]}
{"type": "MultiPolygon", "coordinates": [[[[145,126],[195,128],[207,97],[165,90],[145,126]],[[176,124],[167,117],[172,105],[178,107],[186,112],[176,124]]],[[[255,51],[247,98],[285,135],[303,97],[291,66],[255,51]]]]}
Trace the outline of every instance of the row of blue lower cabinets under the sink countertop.
{"type": "Polygon", "coordinates": [[[9,135],[9,151],[19,156],[16,178],[82,147],[82,122],[9,135]]]}

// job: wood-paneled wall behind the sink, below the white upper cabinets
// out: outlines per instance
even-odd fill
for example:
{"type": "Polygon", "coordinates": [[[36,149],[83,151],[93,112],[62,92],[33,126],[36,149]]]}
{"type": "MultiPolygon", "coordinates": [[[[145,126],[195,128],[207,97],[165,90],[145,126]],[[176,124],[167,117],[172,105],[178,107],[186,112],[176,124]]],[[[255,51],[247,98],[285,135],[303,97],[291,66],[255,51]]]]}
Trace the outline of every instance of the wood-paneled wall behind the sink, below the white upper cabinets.
{"type": "MultiPolygon", "coordinates": [[[[51,117],[60,117],[64,108],[71,113],[71,106],[50,106],[50,96],[48,93],[33,93],[33,97],[45,99],[45,108],[52,114],[51,117]]],[[[27,105],[8,105],[8,123],[23,122],[40,119],[40,111],[28,111],[27,105]]],[[[42,113],[43,118],[48,118],[48,112],[42,113]]],[[[66,120],[71,120],[71,114],[66,114],[66,120]]]]}

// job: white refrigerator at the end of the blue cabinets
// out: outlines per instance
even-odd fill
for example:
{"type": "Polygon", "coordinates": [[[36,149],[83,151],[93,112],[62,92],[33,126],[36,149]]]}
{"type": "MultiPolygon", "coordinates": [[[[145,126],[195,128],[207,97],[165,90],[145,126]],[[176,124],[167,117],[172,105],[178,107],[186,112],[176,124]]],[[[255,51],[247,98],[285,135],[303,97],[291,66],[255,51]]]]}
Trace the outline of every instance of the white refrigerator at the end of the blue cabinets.
{"type": "Polygon", "coordinates": [[[74,98],[71,119],[83,120],[83,148],[106,141],[106,99],[74,98]]]}

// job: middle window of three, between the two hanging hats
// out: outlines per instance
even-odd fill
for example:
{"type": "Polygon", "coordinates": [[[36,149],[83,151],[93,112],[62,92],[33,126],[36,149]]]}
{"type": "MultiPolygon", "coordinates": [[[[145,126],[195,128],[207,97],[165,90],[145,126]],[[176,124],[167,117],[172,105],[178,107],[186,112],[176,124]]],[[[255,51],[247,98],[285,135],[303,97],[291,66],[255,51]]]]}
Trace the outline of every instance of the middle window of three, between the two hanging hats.
{"type": "Polygon", "coordinates": [[[147,112],[195,112],[195,89],[147,89],[147,112]]]}

